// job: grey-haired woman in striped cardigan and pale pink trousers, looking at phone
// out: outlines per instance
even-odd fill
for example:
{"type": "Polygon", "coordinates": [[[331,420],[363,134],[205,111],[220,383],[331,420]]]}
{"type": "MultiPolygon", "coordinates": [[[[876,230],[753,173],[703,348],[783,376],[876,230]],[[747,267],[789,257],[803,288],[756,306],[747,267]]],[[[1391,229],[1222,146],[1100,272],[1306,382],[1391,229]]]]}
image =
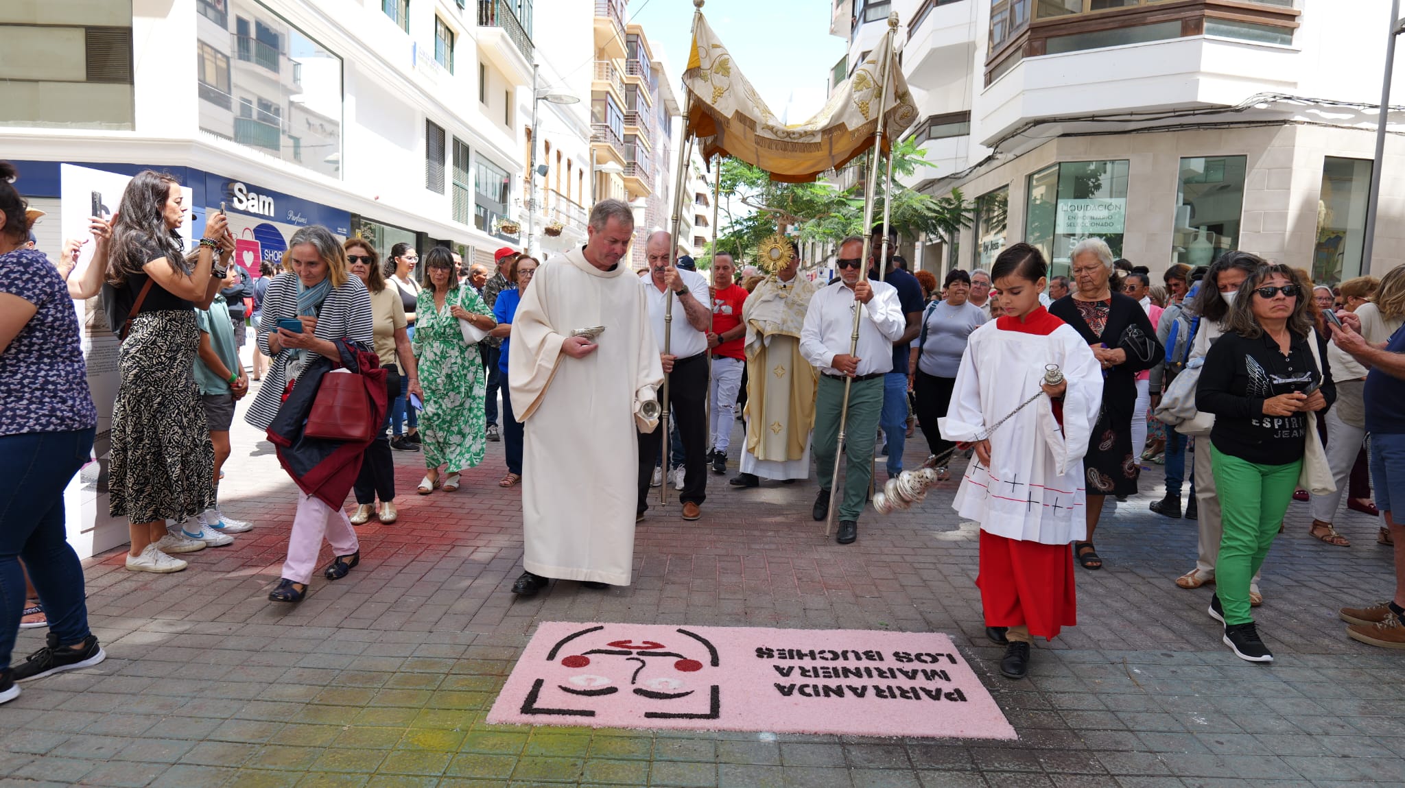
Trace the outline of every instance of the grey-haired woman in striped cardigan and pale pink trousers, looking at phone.
{"type": "MultiPolygon", "coordinates": [[[[319,225],[298,229],[288,242],[287,260],[292,272],[280,274],[268,284],[259,322],[259,350],[273,357],[273,365],[244,421],[260,430],[274,423],[288,383],[295,382],[313,358],[341,360],[334,340],[365,348],[375,341],[371,295],[365,284],[347,271],[346,251],[330,230],[319,225]],[[302,330],[289,331],[280,320],[298,320],[302,330]]],[[[299,492],[288,558],[270,600],[302,601],[323,538],[332,544],[334,556],[323,576],[327,580],[346,577],[361,562],[361,545],[351,523],[340,506],[330,507],[320,497],[299,492]]]]}

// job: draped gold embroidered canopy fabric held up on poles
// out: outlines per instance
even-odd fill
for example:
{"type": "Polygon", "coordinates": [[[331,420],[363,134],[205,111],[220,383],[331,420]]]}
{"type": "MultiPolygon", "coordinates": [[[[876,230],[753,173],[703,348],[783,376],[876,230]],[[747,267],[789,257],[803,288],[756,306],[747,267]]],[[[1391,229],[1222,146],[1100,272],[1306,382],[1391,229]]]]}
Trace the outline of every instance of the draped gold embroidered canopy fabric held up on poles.
{"type": "Polygon", "coordinates": [[[889,37],[864,58],[825,107],[802,124],[785,125],[742,76],[702,14],[693,25],[693,49],[683,84],[690,96],[688,128],[705,159],[732,156],[777,181],[812,181],[873,146],[882,104],[882,63],[891,63],[884,150],[917,118],[917,107],[889,49],[889,37]]]}

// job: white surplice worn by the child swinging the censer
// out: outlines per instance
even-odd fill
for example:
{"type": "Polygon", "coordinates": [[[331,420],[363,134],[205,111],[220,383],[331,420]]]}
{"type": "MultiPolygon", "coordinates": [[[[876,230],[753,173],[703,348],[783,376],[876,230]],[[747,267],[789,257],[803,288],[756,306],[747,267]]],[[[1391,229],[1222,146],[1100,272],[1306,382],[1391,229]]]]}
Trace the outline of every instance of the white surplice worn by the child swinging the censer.
{"type": "Polygon", "coordinates": [[[1007,330],[1013,317],[971,331],[951,406],[939,419],[948,441],[976,441],[1021,402],[1040,392],[1044,367],[1068,381],[1062,427],[1052,400],[1040,396],[989,433],[991,468],[972,457],[953,507],[982,531],[1009,539],[1062,545],[1083,539],[1083,455],[1103,402],[1103,371],[1076,330],[1038,308],[1048,333],[1007,330]]]}

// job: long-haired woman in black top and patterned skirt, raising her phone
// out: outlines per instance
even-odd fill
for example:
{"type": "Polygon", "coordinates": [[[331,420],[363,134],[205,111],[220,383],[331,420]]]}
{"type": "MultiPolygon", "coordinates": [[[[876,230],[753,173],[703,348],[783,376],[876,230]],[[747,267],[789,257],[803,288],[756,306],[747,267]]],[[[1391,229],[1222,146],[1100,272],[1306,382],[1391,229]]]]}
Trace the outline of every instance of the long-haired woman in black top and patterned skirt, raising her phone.
{"type": "Polygon", "coordinates": [[[166,521],[180,524],[215,506],[215,448],[194,376],[194,306],[208,308],[219,292],[235,244],[225,216],[211,212],[200,251],[187,261],[176,229],[188,209],[176,178],[138,173],[122,192],[107,250],[111,301],[119,317],[136,312],[118,360],[108,476],[108,511],[129,521],[126,567],[133,572],[185,569],[170,553],[204,549],[205,542],[184,535],[181,525],[167,532],[166,521]]]}

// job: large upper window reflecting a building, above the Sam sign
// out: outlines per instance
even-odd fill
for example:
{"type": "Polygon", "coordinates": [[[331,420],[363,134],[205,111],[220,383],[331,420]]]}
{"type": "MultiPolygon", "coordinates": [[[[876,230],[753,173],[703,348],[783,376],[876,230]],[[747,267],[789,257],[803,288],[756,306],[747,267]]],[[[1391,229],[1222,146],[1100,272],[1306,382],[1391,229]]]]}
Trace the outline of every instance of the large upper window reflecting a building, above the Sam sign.
{"type": "Polygon", "coordinates": [[[341,58],[257,0],[208,6],[233,35],[197,42],[200,129],[340,178],[341,58]]]}

